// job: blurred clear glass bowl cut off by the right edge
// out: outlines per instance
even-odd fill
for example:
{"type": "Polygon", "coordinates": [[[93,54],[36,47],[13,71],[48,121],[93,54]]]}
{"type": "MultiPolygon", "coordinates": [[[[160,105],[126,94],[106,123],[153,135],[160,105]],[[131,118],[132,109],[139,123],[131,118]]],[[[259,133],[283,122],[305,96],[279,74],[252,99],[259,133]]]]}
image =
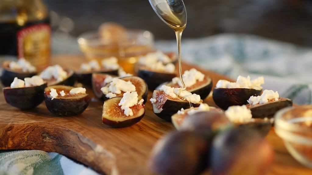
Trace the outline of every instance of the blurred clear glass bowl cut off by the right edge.
{"type": "Polygon", "coordinates": [[[275,132],[298,162],[312,168],[312,105],[278,111],[275,114],[275,132]]]}

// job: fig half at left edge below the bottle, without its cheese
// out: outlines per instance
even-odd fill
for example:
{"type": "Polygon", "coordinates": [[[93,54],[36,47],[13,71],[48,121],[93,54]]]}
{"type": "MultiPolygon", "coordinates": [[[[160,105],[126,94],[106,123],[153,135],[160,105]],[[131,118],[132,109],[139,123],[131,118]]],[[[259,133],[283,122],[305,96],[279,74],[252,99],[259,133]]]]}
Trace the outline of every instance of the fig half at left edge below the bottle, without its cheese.
{"type": "Polygon", "coordinates": [[[37,72],[23,72],[22,70],[12,70],[9,68],[9,64],[11,61],[3,61],[2,63],[2,74],[1,74],[1,82],[3,86],[10,86],[13,82],[14,78],[24,79],[27,77],[32,77],[37,74],[37,72]]]}

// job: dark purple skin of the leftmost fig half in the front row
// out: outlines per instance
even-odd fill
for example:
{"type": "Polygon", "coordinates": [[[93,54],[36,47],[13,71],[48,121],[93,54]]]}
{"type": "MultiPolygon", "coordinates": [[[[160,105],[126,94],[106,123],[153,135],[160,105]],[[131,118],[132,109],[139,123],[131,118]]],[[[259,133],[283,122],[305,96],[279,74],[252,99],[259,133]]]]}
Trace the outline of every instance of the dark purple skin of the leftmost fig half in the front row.
{"type": "Polygon", "coordinates": [[[44,89],[47,83],[40,86],[3,88],[5,101],[11,106],[22,110],[32,109],[38,106],[44,100],[44,89]]]}

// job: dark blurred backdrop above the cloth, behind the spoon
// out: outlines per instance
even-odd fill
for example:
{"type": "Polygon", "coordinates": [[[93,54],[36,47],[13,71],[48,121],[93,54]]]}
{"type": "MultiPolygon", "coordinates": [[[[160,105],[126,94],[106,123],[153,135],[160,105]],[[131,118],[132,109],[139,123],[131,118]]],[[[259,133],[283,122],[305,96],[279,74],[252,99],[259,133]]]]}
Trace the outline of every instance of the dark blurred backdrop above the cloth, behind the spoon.
{"type": "MultiPolygon", "coordinates": [[[[66,41],[115,21],[152,31],[155,40],[174,40],[172,29],[148,0],[45,0],[54,40],[66,41]]],[[[312,46],[312,0],[184,0],[188,24],[183,38],[247,33],[312,46]]],[[[74,49],[74,48],[73,48],[74,49]]]]}

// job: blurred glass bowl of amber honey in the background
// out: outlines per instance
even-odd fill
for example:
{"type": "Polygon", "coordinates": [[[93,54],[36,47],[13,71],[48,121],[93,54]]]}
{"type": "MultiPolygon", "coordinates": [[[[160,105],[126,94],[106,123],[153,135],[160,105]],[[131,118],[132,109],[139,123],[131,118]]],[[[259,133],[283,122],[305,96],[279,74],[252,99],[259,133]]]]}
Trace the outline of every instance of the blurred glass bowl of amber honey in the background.
{"type": "Polygon", "coordinates": [[[101,37],[98,31],[88,31],[77,38],[79,48],[89,60],[101,61],[112,56],[128,73],[133,73],[139,56],[153,50],[154,35],[150,31],[127,29],[120,40],[101,37]]]}

